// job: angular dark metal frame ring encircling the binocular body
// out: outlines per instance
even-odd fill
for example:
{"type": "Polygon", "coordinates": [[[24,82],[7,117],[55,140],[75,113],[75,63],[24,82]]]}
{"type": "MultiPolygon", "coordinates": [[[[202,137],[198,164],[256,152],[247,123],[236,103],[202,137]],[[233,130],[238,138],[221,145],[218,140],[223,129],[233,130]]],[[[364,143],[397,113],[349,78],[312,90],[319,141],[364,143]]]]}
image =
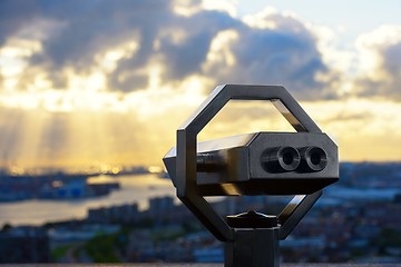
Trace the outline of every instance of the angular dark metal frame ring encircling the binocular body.
{"type": "MultiPolygon", "coordinates": [[[[281,86],[223,85],[215,88],[199,108],[177,129],[177,197],[222,241],[234,240],[234,230],[197,192],[197,135],[229,100],[268,100],[296,131],[322,132],[290,92],[281,86]]],[[[280,237],[285,237],[321,196],[321,190],[295,196],[278,215],[280,237]]]]}

